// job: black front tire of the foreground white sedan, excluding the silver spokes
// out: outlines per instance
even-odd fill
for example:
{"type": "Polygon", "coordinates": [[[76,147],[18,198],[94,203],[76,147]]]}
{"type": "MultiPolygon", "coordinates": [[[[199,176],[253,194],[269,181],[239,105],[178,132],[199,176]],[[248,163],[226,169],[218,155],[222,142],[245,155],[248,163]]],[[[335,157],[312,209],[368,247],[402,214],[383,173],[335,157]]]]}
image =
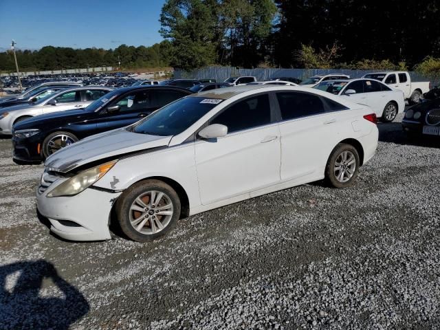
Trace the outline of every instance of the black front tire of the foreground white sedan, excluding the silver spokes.
{"type": "Polygon", "coordinates": [[[122,192],[122,195],[120,195],[120,197],[116,201],[115,207],[116,217],[118,219],[118,224],[122,232],[126,234],[126,236],[128,236],[130,239],[133,239],[133,241],[142,243],[153,241],[154,239],[157,239],[158,237],[163,236],[164,234],[169,232],[179,219],[180,210],[181,203],[177,192],[175,192],[175,190],[171,186],[165,184],[163,181],[155,179],[148,179],[137,182],[137,184],[133,184],[133,186],[124,190],[124,192],[122,192]],[[166,219],[166,216],[155,214],[155,212],[157,213],[157,210],[155,211],[155,205],[150,203],[151,195],[144,196],[144,194],[148,194],[151,191],[164,193],[164,197],[162,197],[163,201],[161,199],[157,204],[157,206],[159,206],[162,203],[162,206],[159,206],[159,208],[163,208],[164,204],[172,204],[172,214],[170,214],[168,220],[166,219]],[[147,208],[142,211],[144,212],[144,214],[132,209],[133,206],[140,206],[140,204],[135,203],[138,197],[139,199],[141,199],[142,202],[146,204],[146,206],[148,206],[148,211],[146,210],[147,208]],[[146,197],[148,197],[148,199],[144,199],[146,197]],[[153,211],[153,214],[151,214],[151,211],[153,211]],[[146,219],[145,221],[142,220],[140,222],[136,222],[137,219],[140,219],[141,217],[143,217],[142,219],[144,220],[145,217],[148,217],[148,219],[146,219]],[[154,217],[155,219],[153,219],[154,217]],[[162,221],[161,219],[164,220],[165,224],[160,222],[162,221]],[[136,226],[141,225],[142,222],[144,222],[144,225],[142,226],[142,228],[140,228],[140,230],[136,230],[133,227],[131,221],[133,221],[133,223],[136,223],[136,226]],[[162,223],[162,225],[164,225],[163,229],[159,228],[159,223],[162,223]],[[154,232],[153,228],[159,229],[159,231],[154,232]]]}

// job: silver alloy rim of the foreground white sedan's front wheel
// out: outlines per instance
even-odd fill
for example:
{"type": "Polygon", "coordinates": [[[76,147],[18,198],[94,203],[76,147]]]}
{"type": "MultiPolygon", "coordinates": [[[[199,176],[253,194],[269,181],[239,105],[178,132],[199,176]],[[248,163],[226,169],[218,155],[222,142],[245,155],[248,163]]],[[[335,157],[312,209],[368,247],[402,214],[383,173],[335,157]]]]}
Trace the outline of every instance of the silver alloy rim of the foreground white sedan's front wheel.
{"type": "Polygon", "coordinates": [[[141,234],[160,232],[173,217],[173,203],[164,192],[150,190],[139,195],[130,206],[130,223],[141,234]]]}

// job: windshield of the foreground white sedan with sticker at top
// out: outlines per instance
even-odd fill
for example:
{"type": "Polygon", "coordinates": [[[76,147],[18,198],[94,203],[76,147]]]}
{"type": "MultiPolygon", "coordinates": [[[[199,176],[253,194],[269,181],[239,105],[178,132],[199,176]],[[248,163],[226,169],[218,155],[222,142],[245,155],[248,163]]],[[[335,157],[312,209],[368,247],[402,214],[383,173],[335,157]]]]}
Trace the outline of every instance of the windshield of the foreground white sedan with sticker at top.
{"type": "Polygon", "coordinates": [[[214,98],[181,98],[129,126],[128,130],[149,135],[177,135],[222,101],[214,98]]]}

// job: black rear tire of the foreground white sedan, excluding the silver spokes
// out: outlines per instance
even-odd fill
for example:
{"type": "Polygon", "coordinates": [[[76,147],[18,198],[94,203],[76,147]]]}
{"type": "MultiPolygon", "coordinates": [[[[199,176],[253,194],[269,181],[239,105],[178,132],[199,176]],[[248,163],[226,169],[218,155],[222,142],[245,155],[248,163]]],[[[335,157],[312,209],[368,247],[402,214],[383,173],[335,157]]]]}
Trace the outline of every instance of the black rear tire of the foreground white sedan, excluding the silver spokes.
{"type": "MultiPolygon", "coordinates": [[[[347,167],[347,165],[345,167],[347,167]]],[[[334,188],[347,188],[351,186],[356,177],[358,177],[359,167],[359,153],[356,148],[351,144],[340,143],[333,149],[333,151],[331,151],[329,160],[327,161],[327,165],[325,166],[325,183],[327,184],[327,186],[331,186],[334,188]],[[340,159],[339,157],[342,157],[342,153],[346,151],[348,152],[347,155],[353,155],[355,160],[355,167],[353,169],[353,175],[351,175],[351,177],[347,179],[349,176],[349,172],[347,171],[347,177],[345,177],[345,173],[342,174],[342,180],[347,179],[347,181],[341,181],[340,179],[338,179],[338,177],[340,176],[340,170],[337,172],[338,175],[336,175],[336,162],[338,160],[338,163],[340,163],[339,160],[342,159],[340,159]]],[[[351,168],[349,168],[349,170],[351,170],[351,168]]]]}

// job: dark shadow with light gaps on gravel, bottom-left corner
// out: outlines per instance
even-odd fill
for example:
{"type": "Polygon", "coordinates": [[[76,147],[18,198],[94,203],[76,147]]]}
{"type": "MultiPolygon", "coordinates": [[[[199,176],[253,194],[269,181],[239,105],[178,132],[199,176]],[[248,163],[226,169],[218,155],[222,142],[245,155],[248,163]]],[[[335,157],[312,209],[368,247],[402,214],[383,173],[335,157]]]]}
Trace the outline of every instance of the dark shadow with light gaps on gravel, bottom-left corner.
{"type": "Polygon", "coordinates": [[[69,329],[89,312],[89,303],[76,287],[45,260],[0,267],[1,329],[69,329]],[[52,281],[56,292],[45,282],[52,281]],[[56,296],[54,296],[54,294],[56,296]]]}

